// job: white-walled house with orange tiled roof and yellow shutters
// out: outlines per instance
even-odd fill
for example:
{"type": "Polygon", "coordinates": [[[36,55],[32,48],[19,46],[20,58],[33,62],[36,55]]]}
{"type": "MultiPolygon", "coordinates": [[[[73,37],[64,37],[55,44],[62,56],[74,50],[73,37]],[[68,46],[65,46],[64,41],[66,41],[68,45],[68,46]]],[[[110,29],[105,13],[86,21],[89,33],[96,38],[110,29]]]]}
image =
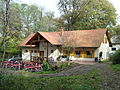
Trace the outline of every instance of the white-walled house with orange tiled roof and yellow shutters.
{"type": "Polygon", "coordinates": [[[77,30],[58,32],[36,32],[30,34],[20,44],[22,59],[34,60],[36,57],[56,60],[60,55],[69,55],[71,60],[93,61],[109,58],[112,46],[106,29],[77,30]]]}

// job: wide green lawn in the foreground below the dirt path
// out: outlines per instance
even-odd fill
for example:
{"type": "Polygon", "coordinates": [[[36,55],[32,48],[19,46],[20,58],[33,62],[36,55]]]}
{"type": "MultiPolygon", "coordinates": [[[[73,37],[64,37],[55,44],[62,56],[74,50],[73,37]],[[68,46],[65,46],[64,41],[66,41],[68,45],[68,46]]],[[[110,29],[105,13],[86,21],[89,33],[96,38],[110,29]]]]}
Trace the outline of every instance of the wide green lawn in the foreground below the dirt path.
{"type": "Polygon", "coordinates": [[[101,77],[92,70],[85,75],[48,78],[0,75],[0,81],[0,90],[99,90],[101,77]]]}

